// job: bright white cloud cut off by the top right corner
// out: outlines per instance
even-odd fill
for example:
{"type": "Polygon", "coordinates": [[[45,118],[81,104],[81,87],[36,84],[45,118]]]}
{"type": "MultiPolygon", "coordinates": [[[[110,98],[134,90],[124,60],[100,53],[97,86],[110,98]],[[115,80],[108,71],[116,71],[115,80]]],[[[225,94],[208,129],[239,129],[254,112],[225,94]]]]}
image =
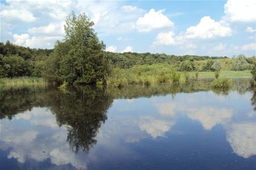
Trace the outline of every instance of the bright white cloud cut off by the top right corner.
{"type": "Polygon", "coordinates": [[[228,0],[224,6],[224,20],[230,22],[255,22],[256,1],[228,0]]]}

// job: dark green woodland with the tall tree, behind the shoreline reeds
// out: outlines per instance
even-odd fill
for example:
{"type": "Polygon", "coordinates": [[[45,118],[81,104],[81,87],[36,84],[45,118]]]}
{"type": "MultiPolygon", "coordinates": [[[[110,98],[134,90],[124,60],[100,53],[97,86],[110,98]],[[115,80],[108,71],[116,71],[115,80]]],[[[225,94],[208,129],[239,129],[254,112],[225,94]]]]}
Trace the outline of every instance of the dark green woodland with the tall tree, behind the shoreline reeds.
{"type": "Polygon", "coordinates": [[[66,20],[65,39],[57,41],[54,49],[31,49],[0,42],[0,77],[43,77],[61,84],[90,84],[106,82],[115,67],[130,69],[138,65],[168,65],[177,71],[250,70],[256,57],[236,58],[209,56],[175,56],[151,53],[105,52],[98,40],[93,22],[84,14],[71,13],[66,20]]]}

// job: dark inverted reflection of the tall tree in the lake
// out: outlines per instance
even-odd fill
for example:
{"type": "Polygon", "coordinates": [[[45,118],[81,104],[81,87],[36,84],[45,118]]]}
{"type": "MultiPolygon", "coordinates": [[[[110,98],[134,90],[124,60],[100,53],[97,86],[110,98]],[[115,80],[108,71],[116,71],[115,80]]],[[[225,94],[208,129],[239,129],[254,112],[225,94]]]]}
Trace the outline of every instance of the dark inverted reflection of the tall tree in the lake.
{"type": "Polygon", "coordinates": [[[49,97],[51,111],[59,126],[67,126],[67,141],[70,148],[88,152],[96,144],[98,129],[107,116],[106,111],[113,102],[104,88],[76,87],[71,91],[55,91],[49,97]]]}

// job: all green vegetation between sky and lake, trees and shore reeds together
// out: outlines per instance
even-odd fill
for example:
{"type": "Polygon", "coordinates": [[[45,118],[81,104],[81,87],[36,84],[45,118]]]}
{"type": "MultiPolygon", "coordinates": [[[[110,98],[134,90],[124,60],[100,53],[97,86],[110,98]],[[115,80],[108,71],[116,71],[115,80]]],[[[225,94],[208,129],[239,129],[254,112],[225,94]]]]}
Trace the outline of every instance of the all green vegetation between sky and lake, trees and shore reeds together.
{"type": "Polygon", "coordinates": [[[0,86],[67,87],[73,84],[123,87],[129,84],[174,84],[214,78],[212,86],[226,88],[231,77],[252,76],[256,86],[256,57],[174,56],[105,51],[85,15],[72,12],[64,25],[65,38],[54,49],[31,49],[0,42],[0,86]]]}

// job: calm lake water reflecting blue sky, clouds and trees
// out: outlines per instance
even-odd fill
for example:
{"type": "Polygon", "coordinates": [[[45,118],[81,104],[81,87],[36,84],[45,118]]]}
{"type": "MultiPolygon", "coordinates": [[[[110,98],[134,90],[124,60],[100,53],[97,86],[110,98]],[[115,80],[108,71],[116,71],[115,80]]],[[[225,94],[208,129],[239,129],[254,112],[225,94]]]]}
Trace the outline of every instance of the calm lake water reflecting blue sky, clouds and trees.
{"type": "Polygon", "coordinates": [[[248,79],[0,90],[0,169],[256,169],[248,79]]]}

